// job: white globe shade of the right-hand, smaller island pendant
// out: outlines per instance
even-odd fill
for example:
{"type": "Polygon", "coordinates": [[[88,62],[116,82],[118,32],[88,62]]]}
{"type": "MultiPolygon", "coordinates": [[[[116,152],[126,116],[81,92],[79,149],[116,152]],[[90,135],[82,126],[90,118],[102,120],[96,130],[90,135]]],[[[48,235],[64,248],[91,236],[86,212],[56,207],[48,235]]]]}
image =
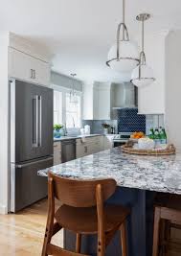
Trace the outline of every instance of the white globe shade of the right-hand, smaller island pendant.
{"type": "Polygon", "coordinates": [[[137,66],[131,74],[131,81],[137,87],[151,84],[153,81],[155,81],[153,78],[152,68],[147,64],[137,66]]]}

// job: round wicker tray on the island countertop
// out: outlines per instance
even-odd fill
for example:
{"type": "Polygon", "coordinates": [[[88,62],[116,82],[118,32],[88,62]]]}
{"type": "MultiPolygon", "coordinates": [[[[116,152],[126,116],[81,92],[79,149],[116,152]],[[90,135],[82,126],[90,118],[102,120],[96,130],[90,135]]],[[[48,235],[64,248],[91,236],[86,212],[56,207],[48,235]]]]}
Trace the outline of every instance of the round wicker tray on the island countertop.
{"type": "Polygon", "coordinates": [[[125,144],[122,146],[122,151],[127,152],[127,153],[132,153],[132,154],[140,154],[140,155],[169,155],[169,154],[174,154],[176,149],[175,147],[170,144],[168,145],[166,150],[137,150],[133,149],[130,144],[125,144]]]}

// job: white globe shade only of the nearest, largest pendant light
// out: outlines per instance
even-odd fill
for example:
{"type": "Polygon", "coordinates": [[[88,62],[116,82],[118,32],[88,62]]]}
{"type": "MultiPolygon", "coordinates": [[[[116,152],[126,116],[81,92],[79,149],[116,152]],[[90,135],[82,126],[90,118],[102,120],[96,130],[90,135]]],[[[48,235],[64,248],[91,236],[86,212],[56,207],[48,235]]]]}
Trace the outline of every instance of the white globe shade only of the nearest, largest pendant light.
{"type": "Polygon", "coordinates": [[[139,52],[136,43],[124,40],[119,41],[119,58],[117,58],[117,44],[108,52],[108,65],[118,72],[131,72],[138,64],[139,52]]]}

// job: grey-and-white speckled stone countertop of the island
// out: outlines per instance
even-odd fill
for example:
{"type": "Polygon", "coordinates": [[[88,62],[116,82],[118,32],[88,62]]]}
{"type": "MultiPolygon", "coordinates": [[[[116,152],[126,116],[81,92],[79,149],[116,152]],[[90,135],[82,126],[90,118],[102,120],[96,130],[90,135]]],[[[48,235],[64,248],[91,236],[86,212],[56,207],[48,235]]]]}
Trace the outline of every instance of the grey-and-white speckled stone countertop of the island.
{"type": "Polygon", "coordinates": [[[49,170],[80,179],[112,177],[118,186],[181,195],[181,154],[133,155],[118,147],[38,171],[38,175],[46,176],[49,170]]]}

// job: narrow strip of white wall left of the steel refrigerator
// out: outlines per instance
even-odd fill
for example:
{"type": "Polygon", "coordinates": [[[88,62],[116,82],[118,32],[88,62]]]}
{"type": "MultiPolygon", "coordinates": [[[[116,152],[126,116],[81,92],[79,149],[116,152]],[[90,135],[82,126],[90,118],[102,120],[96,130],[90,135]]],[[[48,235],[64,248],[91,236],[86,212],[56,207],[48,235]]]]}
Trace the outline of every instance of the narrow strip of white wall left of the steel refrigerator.
{"type": "Polygon", "coordinates": [[[9,34],[0,34],[0,213],[8,213],[8,45],[9,34]]]}

